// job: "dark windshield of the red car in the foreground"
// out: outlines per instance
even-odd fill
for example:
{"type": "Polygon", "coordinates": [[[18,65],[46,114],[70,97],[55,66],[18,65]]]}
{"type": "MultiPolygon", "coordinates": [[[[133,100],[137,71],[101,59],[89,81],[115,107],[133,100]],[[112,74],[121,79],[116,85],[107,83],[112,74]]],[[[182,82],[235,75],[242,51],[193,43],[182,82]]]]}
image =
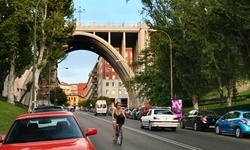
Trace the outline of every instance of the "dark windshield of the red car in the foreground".
{"type": "Polygon", "coordinates": [[[80,138],[83,134],[72,116],[42,117],[17,120],[5,143],[80,138]]]}

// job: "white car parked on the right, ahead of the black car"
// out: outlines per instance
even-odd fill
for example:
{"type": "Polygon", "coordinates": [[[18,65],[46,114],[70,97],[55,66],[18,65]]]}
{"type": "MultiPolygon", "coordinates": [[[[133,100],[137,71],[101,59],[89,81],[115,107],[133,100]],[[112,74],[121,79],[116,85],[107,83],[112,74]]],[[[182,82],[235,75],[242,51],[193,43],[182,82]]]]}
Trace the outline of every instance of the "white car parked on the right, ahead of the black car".
{"type": "Polygon", "coordinates": [[[148,127],[149,130],[171,128],[172,131],[176,131],[178,125],[179,118],[170,109],[150,109],[140,120],[140,127],[148,127]]]}

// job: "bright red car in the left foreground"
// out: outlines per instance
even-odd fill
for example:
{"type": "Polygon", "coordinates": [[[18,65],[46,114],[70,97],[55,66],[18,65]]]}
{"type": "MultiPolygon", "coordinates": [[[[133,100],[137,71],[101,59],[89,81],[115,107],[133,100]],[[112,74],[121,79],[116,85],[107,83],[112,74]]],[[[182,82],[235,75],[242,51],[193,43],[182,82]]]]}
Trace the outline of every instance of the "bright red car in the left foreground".
{"type": "Polygon", "coordinates": [[[95,150],[89,135],[95,128],[83,130],[71,112],[42,112],[16,118],[5,138],[0,136],[0,150],[95,150]]]}

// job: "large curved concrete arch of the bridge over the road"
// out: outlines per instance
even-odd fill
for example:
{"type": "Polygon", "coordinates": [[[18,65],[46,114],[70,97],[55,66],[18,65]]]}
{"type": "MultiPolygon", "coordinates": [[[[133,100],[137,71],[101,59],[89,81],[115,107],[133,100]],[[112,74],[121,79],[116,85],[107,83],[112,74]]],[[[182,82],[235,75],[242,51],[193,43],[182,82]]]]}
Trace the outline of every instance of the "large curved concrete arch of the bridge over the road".
{"type": "MultiPolygon", "coordinates": [[[[65,52],[70,53],[76,50],[91,51],[103,57],[115,69],[123,82],[134,76],[133,70],[120,53],[97,35],[84,31],[75,31],[68,39],[65,52]]],[[[127,91],[129,92],[129,104],[133,107],[138,106],[136,92],[132,89],[127,89],[127,91]]]]}

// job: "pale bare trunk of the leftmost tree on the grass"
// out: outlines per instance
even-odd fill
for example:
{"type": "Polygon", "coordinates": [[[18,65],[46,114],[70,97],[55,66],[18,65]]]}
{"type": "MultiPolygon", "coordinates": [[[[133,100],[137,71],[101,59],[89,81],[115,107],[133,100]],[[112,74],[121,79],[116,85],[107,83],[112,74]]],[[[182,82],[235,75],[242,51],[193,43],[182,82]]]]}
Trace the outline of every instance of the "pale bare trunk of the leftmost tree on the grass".
{"type": "Polygon", "coordinates": [[[10,61],[10,73],[8,77],[8,102],[14,104],[14,87],[15,87],[15,53],[10,61]]]}

